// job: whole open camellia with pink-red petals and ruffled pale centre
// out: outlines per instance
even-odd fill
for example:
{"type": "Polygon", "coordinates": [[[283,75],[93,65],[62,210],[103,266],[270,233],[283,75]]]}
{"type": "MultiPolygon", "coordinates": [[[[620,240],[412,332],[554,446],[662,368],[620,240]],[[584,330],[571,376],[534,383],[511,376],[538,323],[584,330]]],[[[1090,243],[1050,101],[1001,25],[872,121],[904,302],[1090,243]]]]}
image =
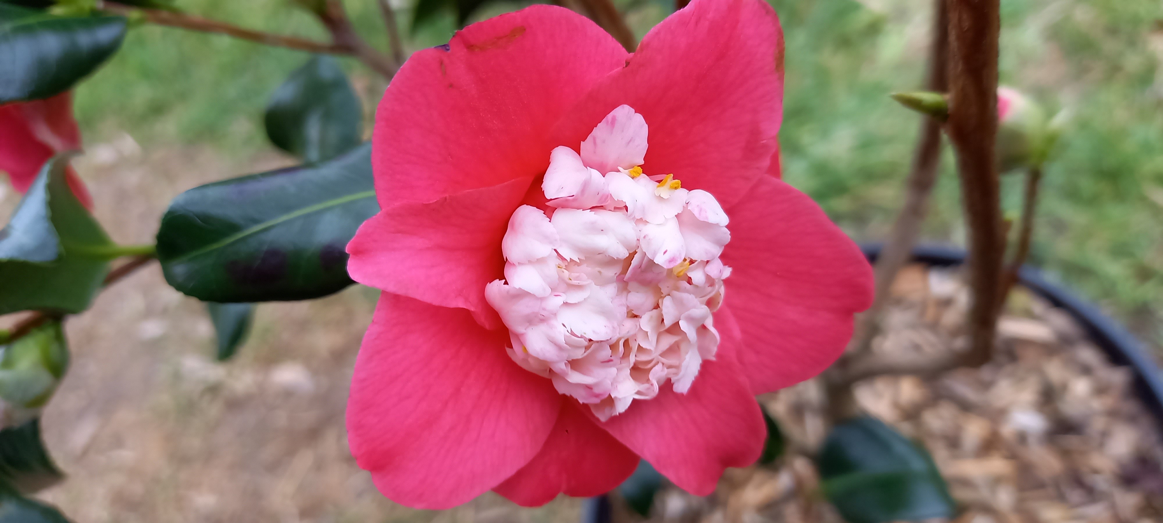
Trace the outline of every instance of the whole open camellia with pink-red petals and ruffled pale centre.
{"type": "Polygon", "coordinates": [[[383,289],[348,432],[392,500],[597,495],[645,459],[709,494],[755,395],[813,377],[871,302],[861,251],[779,179],[783,36],[694,0],[627,53],[534,6],[414,55],[377,115],[383,289]]]}

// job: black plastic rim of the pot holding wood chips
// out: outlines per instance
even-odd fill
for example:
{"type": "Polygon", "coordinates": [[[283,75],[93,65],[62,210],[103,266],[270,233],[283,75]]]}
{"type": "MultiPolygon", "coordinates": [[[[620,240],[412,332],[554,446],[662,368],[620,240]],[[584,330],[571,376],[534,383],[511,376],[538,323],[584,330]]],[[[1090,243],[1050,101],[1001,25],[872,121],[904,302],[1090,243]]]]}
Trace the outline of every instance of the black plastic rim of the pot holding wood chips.
{"type": "MultiPolygon", "coordinates": [[[[880,243],[861,245],[869,262],[876,262],[880,255],[880,243]]],[[[913,248],[913,262],[935,266],[955,266],[965,263],[965,250],[958,246],[922,244],[913,248]]],[[[1103,314],[1089,300],[1084,300],[1063,285],[1051,281],[1047,275],[1029,265],[1022,266],[1018,274],[1023,287],[1030,289],[1050,305],[1062,308],[1079,327],[1086,331],[1107,358],[1115,365],[1128,366],[1134,371],[1135,394],[1147,404],[1155,422],[1163,430],[1163,374],[1160,373],[1155,359],[1147,346],[1135,338],[1121,324],[1103,314]]],[[[611,506],[608,496],[601,495],[586,500],[582,511],[584,523],[608,523],[611,506]]]]}

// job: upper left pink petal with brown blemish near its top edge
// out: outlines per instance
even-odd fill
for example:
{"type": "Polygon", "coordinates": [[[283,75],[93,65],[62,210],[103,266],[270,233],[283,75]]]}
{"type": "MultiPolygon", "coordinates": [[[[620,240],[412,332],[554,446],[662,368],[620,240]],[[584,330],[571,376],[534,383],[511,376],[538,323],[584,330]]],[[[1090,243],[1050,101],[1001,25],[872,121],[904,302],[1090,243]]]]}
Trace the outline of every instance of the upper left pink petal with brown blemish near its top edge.
{"type": "Polygon", "coordinates": [[[554,6],[475,23],[447,46],[412,55],[376,115],[380,205],[541,174],[564,144],[549,139],[550,128],[626,56],[588,19],[554,6]]]}

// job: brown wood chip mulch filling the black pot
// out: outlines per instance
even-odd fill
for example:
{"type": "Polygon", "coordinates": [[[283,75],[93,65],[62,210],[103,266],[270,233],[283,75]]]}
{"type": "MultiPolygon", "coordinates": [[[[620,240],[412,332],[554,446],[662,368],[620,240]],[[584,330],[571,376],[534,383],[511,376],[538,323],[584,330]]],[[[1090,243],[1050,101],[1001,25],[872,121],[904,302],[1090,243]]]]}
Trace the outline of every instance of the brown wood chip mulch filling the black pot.
{"type": "MultiPolygon", "coordinates": [[[[879,353],[965,344],[968,289],[956,268],[911,265],[892,288],[879,353]]],[[[958,523],[1163,521],[1160,422],[1062,309],[1023,288],[999,323],[994,360],[926,381],[879,377],[856,386],[869,414],[923,443],[961,504],[958,523]]],[[[841,522],[812,461],[829,421],[809,380],[761,396],[787,447],[771,466],[729,470],[708,497],[669,487],[651,521],[841,522]]]]}

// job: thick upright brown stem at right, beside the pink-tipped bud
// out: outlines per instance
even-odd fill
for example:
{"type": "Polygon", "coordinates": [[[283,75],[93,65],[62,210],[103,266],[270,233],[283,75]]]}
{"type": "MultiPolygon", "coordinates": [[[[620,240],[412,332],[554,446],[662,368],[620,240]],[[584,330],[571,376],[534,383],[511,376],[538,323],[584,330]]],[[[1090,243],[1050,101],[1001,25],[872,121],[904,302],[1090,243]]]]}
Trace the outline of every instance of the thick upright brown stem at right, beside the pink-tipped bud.
{"type": "Polygon", "coordinates": [[[969,225],[968,365],[993,354],[1001,289],[1001,205],[993,144],[998,131],[999,0],[949,0],[949,121],[969,225]]]}

